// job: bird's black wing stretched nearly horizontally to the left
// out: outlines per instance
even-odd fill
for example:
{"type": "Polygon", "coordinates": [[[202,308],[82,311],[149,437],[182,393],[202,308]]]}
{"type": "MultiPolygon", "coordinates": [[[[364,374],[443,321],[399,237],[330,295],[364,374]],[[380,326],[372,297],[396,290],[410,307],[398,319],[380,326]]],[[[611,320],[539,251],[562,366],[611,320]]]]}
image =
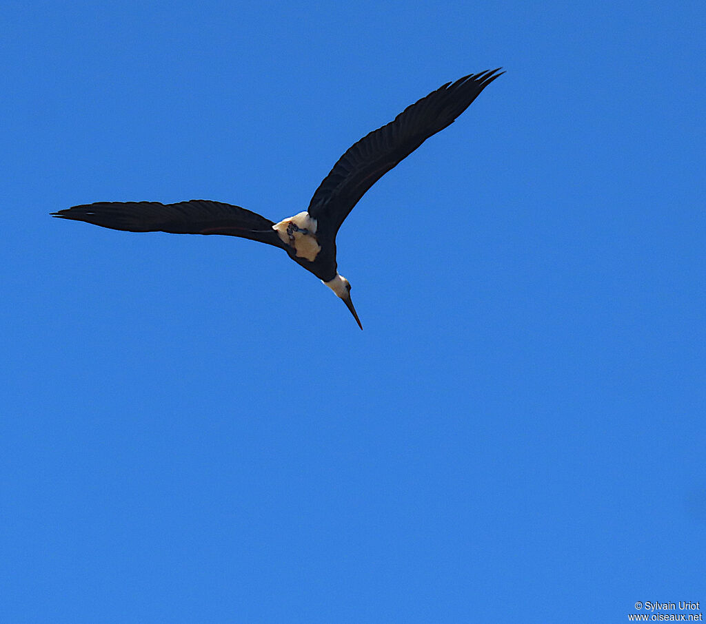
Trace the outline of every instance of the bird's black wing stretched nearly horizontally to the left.
{"type": "Polygon", "coordinates": [[[222,234],[285,248],[270,219],[239,206],[210,200],[177,204],[97,202],[59,210],[52,216],[127,232],[222,234]]]}

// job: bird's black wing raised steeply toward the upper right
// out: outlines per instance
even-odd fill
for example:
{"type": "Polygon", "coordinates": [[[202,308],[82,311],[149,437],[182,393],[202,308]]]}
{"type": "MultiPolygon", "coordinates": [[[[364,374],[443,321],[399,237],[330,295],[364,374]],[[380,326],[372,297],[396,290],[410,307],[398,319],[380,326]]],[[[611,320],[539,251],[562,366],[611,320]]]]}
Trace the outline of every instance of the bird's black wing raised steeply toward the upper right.
{"type": "Polygon", "coordinates": [[[447,82],[349,147],[313,194],[309,214],[324,219],[335,233],[366,190],[431,135],[449,126],[505,73],[500,69],[447,82]]]}

